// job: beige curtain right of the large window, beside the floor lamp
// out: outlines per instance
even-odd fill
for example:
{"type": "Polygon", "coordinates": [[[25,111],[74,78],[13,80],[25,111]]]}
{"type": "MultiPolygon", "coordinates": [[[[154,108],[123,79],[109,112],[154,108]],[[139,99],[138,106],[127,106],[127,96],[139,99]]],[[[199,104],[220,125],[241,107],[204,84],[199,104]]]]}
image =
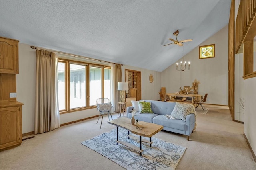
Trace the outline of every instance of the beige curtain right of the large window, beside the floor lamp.
{"type": "Polygon", "coordinates": [[[117,91],[118,82],[122,82],[122,70],[121,65],[119,64],[112,64],[111,66],[111,102],[112,105],[115,107],[115,112],[117,112],[116,103],[119,102],[119,93],[117,91]]]}

